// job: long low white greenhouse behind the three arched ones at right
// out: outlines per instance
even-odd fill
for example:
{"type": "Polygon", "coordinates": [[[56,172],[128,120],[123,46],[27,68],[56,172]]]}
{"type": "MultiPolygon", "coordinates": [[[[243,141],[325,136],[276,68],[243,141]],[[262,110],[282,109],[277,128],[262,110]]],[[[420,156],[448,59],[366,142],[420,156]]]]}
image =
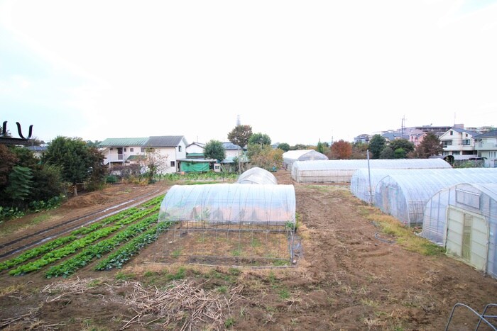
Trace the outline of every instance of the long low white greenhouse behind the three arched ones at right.
{"type": "Polygon", "coordinates": [[[349,183],[357,169],[449,169],[443,159],[332,159],[296,161],[292,178],[299,183],[349,183]]]}

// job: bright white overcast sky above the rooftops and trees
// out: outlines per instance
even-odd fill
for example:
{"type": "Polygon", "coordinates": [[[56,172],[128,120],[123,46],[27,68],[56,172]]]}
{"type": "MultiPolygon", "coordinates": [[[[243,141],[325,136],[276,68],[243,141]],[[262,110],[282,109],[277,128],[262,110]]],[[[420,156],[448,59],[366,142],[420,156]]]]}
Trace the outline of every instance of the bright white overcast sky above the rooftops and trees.
{"type": "Polygon", "coordinates": [[[497,126],[497,0],[0,0],[18,137],[353,141],[497,126]]]}

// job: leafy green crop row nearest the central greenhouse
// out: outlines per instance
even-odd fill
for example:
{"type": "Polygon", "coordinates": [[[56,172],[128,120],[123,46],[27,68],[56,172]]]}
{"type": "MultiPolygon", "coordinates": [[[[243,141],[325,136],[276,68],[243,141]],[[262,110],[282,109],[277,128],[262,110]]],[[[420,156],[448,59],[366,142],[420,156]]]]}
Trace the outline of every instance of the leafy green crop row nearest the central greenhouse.
{"type": "Polygon", "coordinates": [[[158,225],[153,226],[153,228],[148,229],[146,232],[143,232],[123,247],[116,249],[115,252],[109,254],[109,256],[99,262],[94,269],[109,270],[112,268],[121,268],[123,264],[128,262],[140,249],[146,247],[152,242],[155,242],[158,235],[160,235],[160,233],[165,229],[169,228],[170,225],[170,222],[158,223],[158,225]]]}

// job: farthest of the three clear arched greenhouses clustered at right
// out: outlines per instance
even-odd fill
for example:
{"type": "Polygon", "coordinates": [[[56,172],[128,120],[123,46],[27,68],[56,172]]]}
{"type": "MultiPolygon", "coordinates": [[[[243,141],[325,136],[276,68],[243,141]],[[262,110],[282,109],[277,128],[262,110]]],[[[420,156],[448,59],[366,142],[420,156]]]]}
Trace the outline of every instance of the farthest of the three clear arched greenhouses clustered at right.
{"type": "Polygon", "coordinates": [[[464,168],[464,169],[357,169],[350,180],[351,193],[367,203],[374,202],[374,190],[376,185],[391,174],[437,174],[437,172],[453,172],[461,174],[495,172],[491,168],[464,168]],[[370,183],[371,174],[371,186],[370,183]]]}

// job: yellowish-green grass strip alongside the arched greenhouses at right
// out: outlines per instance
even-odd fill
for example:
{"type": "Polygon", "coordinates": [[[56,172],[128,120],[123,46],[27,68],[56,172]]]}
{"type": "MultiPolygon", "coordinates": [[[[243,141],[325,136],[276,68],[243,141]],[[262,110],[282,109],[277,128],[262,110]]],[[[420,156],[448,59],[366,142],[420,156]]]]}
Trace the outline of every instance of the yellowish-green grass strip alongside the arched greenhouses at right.
{"type": "Polygon", "coordinates": [[[417,252],[426,256],[442,255],[445,249],[435,245],[423,237],[415,235],[415,229],[400,223],[391,215],[385,215],[378,208],[362,206],[361,215],[376,225],[378,230],[385,235],[395,237],[395,242],[410,252],[417,252]]]}

